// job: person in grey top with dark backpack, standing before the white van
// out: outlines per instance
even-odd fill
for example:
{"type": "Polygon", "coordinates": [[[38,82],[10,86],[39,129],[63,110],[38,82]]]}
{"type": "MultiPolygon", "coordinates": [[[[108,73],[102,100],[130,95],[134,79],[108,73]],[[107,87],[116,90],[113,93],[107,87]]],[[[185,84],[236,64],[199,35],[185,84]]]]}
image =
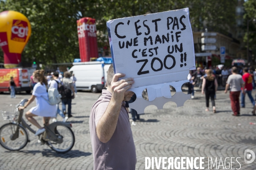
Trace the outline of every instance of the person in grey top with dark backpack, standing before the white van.
{"type": "Polygon", "coordinates": [[[68,118],[72,117],[71,115],[71,102],[72,102],[72,98],[75,98],[75,95],[72,96],[72,92],[73,94],[75,94],[75,90],[74,90],[74,86],[73,86],[73,81],[70,79],[71,74],[70,72],[66,71],[64,72],[64,78],[62,79],[62,83],[64,85],[65,88],[65,96],[64,99],[62,99],[62,111],[64,114],[67,113],[68,118]],[[67,105],[67,112],[66,112],[66,105],[67,105]]]}

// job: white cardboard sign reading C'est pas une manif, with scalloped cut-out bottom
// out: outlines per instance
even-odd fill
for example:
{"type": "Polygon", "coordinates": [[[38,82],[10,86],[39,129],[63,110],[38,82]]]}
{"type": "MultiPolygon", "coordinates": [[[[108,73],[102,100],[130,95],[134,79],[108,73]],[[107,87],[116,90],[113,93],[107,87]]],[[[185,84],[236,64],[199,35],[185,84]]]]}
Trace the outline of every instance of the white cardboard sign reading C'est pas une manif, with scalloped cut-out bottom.
{"type": "MultiPolygon", "coordinates": [[[[144,112],[143,107],[138,107],[142,102],[145,107],[161,108],[159,103],[164,105],[166,99],[173,101],[172,98],[183,94],[181,82],[188,82],[189,69],[195,69],[188,8],[110,20],[107,27],[114,71],[124,73],[124,78],[134,78],[130,91],[134,91],[137,99],[131,105],[137,105],[138,113],[144,112]],[[176,87],[173,97],[170,83],[176,87]],[[145,88],[149,101],[141,96],[145,88]]],[[[188,96],[183,98],[188,99],[188,96]]],[[[176,99],[174,102],[179,106],[185,101],[176,99]]]]}

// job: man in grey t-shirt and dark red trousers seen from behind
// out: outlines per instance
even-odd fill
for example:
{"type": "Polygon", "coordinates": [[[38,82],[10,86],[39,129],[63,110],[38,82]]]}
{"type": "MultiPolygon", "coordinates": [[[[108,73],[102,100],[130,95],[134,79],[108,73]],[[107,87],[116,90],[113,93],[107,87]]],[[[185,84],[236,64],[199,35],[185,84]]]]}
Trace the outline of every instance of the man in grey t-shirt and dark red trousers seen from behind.
{"type": "Polygon", "coordinates": [[[242,93],[244,93],[244,80],[238,73],[238,69],[236,67],[232,67],[231,72],[232,74],[227,78],[227,84],[224,93],[227,93],[228,88],[230,88],[230,103],[233,116],[240,116],[239,96],[241,89],[242,93]]]}

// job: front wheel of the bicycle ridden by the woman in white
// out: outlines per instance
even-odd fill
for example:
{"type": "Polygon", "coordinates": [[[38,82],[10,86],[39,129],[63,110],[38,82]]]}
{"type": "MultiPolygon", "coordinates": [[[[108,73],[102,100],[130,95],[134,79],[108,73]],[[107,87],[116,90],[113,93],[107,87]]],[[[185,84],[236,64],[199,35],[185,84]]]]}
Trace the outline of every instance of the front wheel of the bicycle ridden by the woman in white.
{"type": "Polygon", "coordinates": [[[0,127],[0,144],[8,150],[20,150],[28,143],[28,134],[24,127],[19,125],[19,131],[15,134],[17,124],[8,123],[0,127]],[[12,139],[17,135],[16,139],[12,139]]]}

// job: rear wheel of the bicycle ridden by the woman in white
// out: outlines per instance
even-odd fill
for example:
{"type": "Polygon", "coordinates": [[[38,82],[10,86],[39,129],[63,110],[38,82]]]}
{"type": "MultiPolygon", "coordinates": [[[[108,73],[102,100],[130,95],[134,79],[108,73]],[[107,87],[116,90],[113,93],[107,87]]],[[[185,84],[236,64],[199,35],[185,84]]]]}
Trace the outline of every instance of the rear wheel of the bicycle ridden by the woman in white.
{"type": "Polygon", "coordinates": [[[47,141],[47,144],[51,147],[51,149],[58,153],[70,151],[75,144],[75,135],[70,127],[58,125],[55,127],[55,134],[60,136],[63,142],[56,143],[54,141],[47,141]]]}

